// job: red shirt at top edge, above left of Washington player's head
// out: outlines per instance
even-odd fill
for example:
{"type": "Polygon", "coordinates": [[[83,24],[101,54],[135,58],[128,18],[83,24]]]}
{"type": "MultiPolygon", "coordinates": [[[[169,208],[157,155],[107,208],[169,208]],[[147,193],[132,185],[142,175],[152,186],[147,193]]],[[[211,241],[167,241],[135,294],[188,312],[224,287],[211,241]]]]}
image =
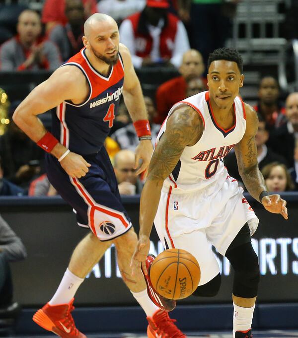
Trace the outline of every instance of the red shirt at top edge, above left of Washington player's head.
{"type": "MultiPolygon", "coordinates": [[[[82,0],[84,6],[91,2],[91,14],[97,12],[96,0],[82,0]]],[[[65,15],[65,0],[46,0],[42,10],[41,21],[47,22],[58,22],[65,25],[68,19],[65,15]]]]}

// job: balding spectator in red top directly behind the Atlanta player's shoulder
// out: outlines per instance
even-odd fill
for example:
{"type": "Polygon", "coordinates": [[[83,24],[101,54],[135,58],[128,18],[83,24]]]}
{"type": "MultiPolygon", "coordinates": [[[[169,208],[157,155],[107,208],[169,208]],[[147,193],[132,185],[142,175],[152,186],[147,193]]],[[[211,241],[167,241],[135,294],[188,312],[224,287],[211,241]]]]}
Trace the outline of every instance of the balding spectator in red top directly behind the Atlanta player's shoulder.
{"type": "Polygon", "coordinates": [[[180,76],[174,77],[162,83],[156,91],[157,115],[155,123],[162,124],[172,106],[188,97],[187,81],[192,77],[202,77],[207,85],[207,80],[203,78],[204,62],[201,53],[195,49],[190,49],[183,54],[182,62],[179,67],[180,76]],[[169,93],[171,93],[169,95],[169,93]]]}

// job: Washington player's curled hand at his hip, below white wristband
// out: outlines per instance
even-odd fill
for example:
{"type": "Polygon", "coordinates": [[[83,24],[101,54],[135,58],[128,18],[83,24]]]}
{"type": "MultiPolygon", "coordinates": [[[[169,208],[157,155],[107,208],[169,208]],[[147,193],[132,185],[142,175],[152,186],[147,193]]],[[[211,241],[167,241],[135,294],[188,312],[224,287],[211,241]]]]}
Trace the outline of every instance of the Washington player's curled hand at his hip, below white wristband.
{"type": "Polygon", "coordinates": [[[70,152],[60,162],[62,168],[73,178],[81,178],[86,175],[91,166],[81,155],[70,152]]]}

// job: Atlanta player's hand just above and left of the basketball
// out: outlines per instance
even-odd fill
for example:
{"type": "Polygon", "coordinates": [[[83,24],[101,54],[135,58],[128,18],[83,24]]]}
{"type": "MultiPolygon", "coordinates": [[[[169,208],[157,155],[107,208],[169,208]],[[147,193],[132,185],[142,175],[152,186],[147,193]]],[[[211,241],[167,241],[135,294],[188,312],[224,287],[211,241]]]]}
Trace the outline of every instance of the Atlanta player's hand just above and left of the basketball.
{"type": "Polygon", "coordinates": [[[150,240],[148,236],[141,236],[137,243],[135,252],[131,260],[132,276],[138,275],[137,271],[141,269],[141,265],[145,274],[148,274],[146,268],[146,259],[150,249],[150,240]]]}

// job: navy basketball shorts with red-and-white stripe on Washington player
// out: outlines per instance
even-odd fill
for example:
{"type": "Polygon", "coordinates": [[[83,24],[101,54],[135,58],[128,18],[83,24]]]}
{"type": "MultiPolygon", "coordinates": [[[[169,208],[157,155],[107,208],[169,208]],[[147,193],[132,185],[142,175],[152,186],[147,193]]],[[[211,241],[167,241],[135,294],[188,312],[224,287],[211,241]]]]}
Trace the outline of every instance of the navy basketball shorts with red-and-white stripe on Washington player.
{"type": "Polygon", "coordinates": [[[86,176],[72,178],[56,157],[46,154],[49,181],[76,213],[77,224],[90,228],[101,241],[127,232],[131,220],[122,205],[114,168],[104,146],[96,153],[83,155],[91,164],[86,176]]]}

